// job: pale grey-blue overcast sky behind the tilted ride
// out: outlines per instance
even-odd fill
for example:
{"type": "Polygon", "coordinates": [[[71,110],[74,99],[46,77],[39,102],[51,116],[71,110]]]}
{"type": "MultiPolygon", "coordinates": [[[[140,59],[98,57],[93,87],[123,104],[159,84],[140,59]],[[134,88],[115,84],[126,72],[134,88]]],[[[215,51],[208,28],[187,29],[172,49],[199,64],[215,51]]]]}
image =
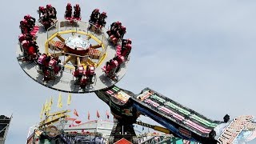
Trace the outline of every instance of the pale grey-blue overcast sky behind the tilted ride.
{"type": "MultiPolygon", "coordinates": [[[[57,91],[34,82],[18,65],[19,21],[25,14],[38,18],[38,6],[48,3],[62,19],[66,2],[80,4],[83,21],[99,8],[106,11],[108,26],[114,21],[126,26],[133,50],[129,70],[117,86],[135,94],[149,86],[216,120],[225,114],[256,116],[256,1],[8,0],[0,9],[0,114],[14,116],[7,144],[26,142],[29,127],[39,122],[42,103],[51,95],[55,103],[58,99],[57,91]]],[[[91,118],[96,110],[105,118],[109,110],[95,94],[73,94],[70,109],[74,107],[84,120],[88,110],[91,118]]]]}

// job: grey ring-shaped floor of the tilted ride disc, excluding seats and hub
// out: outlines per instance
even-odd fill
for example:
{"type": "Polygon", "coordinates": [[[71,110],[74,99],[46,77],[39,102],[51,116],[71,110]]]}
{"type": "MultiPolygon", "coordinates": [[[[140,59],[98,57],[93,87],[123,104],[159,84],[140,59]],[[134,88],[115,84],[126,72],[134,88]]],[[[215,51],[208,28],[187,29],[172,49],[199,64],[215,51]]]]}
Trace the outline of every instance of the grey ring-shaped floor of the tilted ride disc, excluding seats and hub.
{"type": "MultiPolygon", "coordinates": [[[[54,78],[50,79],[49,81],[44,80],[44,76],[38,73],[39,67],[37,62],[30,62],[30,61],[22,61],[22,50],[20,43],[17,46],[17,59],[18,64],[22,67],[22,70],[30,76],[30,78],[34,79],[34,81],[42,84],[43,86],[49,87],[54,90],[59,90],[67,93],[90,93],[96,90],[106,89],[110,86],[114,86],[119,80],[123,78],[126,74],[127,68],[127,61],[122,64],[120,70],[116,74],[115,78],[107,78],[105,72],[102,70],[102,67],[105,66],[106,62],[109,62],[110,59],[113,59],[116,56],[116,47],[113,46],[107,38],[106,30],[102,29],[101,34],[96,34],[94,31],[89,30],[90,23],[76,21],[76,25],[70,24],[70,21],[58,21],[51,26],[48,30],[44,30],[43,26],[38,23],[38,33],[36,34],[36,42],[38,44],[38,50],[41,54],[60,54],[58,57],[61,61],[65,61],[65,58],[68,58],[70,55],[74,56],[76,54],[70,54],[65,51],[57,50],[56,48],[50,48],[51,42],[58,37],[66,37],[66,38],[58,38],[58,40],[68,40],[69,38],[75,37],[81,39],[82,37],[86,37],[87,39],[92,40],[93,42],[84,41],[87,45],[98,43],[98,45],[102,45],[102,50],[100,50],[100,56],[98,56],[97,60],[91,60],[91,58],[95,58],[95,56],[88,57],[87,59],[91,60],[95,66],[95,78],[94,83],[86,86],[86,88],[81,88],[76,82],[73,72],[74,72],[74,65],[72,66],[72,62],[66,63],[64,69],[57,74],[54,78]],[[70,35],[71,34],[71,35],[70,35]],[[48,50],[47,50],[48,49],[48,50]]],[[[75,39],[74,38],[74,39],[75,39]]],[[[84,38],[84,39],[86,39],[84,38]]],[[[78,42],[79,43],[79,42],[78,42]]],[[[81,44],[81,43],[80,43],[81,44]]],[[[78,44],[78,45],[80,45],[78,44]]],[[[97,45],[96,45],[97,46],[97,45]]],[[[86,49],[85,49],[86,50],[86,49]]],[[[94,49],[95,50],[95,49],[94,49]]],[[[54,55],[54,56],[56,56],[54,55]]],[[[76,55],[80,57],[81,55],[76,55]]],[[[86,55],[88,56],[88,54],[86,55]]],[[[74,63],[74,62],[73,62],[74,63]]]]}

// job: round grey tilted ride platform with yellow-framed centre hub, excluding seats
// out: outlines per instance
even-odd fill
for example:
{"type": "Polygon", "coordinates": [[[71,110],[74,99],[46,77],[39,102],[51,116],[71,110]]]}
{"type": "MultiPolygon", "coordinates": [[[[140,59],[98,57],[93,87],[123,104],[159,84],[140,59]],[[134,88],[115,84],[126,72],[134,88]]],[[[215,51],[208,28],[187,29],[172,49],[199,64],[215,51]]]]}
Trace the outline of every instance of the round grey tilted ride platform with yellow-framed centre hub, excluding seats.
{"type": "Polygon", "coordinates": [[[58,21],[48,30],[44,30],[44,27],[38,23],[36,42],[39,52],[58,57],[63,66],[54,78],[45,81],[37,62],[22,61],[23,53],[19,43],[16,52],[18,64],[34,81],[54,90],[68,93],[90,93],[113,86],[126,74],[128,61],[122,64],[115,78],[107,78],[102,67],[116,56],[116,47],[108,42],[105,29],[102,29],[101,34],[96,34],[88,30],[89,26],[88,22],[58,21]],[[92,54],[95,51],[97,54],[92,54]],[[73,73],[78,65],[95,67],[93,83],[86,88],[81,88],[74,78],[73,73]]]}

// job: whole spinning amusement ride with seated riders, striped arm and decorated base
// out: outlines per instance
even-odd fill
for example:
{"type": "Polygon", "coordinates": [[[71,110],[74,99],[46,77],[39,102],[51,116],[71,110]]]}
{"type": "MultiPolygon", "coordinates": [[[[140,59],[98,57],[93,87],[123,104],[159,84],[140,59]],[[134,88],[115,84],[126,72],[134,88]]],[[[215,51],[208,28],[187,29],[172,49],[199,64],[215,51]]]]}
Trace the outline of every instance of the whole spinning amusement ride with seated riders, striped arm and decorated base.
{"type": "MultiPolygon", "coordinates": [[[[150,88],[134,94],[115,86],[126,74],[132,41],[125,38],[126,26],[122,22],[113,22],[106,28],[106,12],[95,9],[89,21],[84,22],[79,4],[72,7],[68,3],[64,20],[57,18],[57,10],[50,4],[39,6],[38,14],[38,21],[27,14],[20,22],[18,64],[43,86],[69,94],[94,92],[106,102],[114,115],[114,122],[103,122],[108,125],[109,143],[122,139],[146,143],[138,140],[133,126],[136,123],[171,134],[171,138],[207,144],[247,142],[256,137],[254,116],[243,115],[230,120],[226,115],[223,121],[214,121],[150,88]],[[138,122],[140,115],[146,115],[163,127],[138,122]]],[[[94,134],[89,128],[82,131],[79,126],[76,131],[70,131],[70,123],[76,121],[69,117],[69,112],[46,114],[38,126],[31,128],[27,143],[46,139],[51,143],[86,143],[85,138],[102,137],[98,129],[94,134]]],[[[99,122],[90,123],[97,127],[99,122]]],[[[103,143],[103,140],[98,142],[103,143]]]]}

